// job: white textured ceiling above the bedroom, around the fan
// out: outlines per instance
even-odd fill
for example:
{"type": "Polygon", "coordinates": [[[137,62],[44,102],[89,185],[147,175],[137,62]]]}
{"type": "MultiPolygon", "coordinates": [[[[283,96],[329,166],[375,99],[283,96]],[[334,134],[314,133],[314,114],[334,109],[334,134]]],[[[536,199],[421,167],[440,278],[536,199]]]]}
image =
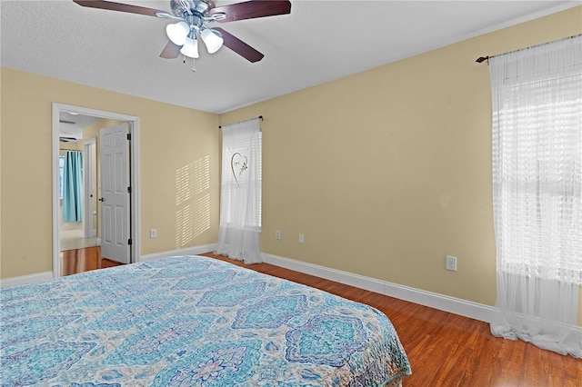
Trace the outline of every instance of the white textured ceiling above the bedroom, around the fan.
{"type": "MultiPolygon", "coordinates": [[[[167,1],[123,1],[169,11],[167,1]]],[[[235,3],[216,1],[216,5],[235,3]]],[[[265,54],[251,64],[201,45],[158,55],[170,22],[71,0],[0,2],[1,65],[211,113],[384,65],[580,1],[297,1],[291,14],[220,25],[265,54]]],[[[482,55],[496,53],[480,53],[482,55]]],[[[120,107],[120,111],[123,108],[120,107]]]]}

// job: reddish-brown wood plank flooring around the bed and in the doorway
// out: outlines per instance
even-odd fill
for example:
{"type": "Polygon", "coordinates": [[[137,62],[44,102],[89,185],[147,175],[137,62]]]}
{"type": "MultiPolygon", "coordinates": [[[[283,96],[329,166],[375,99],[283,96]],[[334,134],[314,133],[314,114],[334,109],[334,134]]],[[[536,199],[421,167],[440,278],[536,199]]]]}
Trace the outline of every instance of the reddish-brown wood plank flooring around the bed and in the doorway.
{"type": "MultiPolygon", "coordinates": [[[[92,256],[90,253],[83,254],[83,259],[92,259],[88,258],[92,256]]],[[[386,313],[405,347],[412,368],[413,374],[403,381],[405,387],[582,386],[581,359],[544,351],[527,342],[499,339],[489,332],[487,323],[268,263],[246,266],[220,255],[203,255],[296,283],[304,283],[358,303],[367,303],[386,313]]],[[[63,263],[66,259],[61,253],[63,267],[68,264],[63,263]]],[[[80,255],[76,259],[77,262],[83,260],[80,255]]],[[[104,263],[101,259],[100,263],[75,263],[69,267],[105,267],[104,264],[117,263],[104,263]]]]}

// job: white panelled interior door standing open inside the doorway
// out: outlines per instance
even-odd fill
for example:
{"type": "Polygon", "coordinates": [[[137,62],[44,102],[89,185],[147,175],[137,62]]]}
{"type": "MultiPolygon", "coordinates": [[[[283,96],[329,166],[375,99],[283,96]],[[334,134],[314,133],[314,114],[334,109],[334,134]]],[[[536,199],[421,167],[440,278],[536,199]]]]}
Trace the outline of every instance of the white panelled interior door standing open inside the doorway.
{"type": "Polygon", "coordinates": [[[128,125],[99,131],[101,159],[101,255],[130,263],[129,248],[129,140],[128,125]]]}

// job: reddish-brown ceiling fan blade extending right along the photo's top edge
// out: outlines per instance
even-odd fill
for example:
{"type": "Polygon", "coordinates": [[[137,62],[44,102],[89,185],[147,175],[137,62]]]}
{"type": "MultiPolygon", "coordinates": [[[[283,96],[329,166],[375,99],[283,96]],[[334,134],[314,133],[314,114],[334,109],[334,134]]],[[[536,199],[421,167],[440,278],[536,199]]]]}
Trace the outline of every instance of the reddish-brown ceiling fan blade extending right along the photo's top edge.
{"type": "Polygon", "coordinates": [[[255,17],[286,15],[291,13],[291,2],[287,0],[251,0],[244,3],[218,6],[208,11],[208,15],[217,13],[226,14],[226,18],[217,20],[219,23],[253,19],[255,17]]]}

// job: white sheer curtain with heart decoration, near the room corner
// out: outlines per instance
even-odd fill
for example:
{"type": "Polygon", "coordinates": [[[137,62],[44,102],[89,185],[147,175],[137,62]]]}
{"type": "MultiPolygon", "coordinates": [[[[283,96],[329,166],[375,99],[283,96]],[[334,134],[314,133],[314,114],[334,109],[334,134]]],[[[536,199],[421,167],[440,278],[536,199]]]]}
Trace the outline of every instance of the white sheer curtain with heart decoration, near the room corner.
{"type": "Polygon", "coordinates": [[[222,126],[220,225],[215,253],[245,263],[263,261],[260,251],[261,146],[258,118],[222,126]]]}

